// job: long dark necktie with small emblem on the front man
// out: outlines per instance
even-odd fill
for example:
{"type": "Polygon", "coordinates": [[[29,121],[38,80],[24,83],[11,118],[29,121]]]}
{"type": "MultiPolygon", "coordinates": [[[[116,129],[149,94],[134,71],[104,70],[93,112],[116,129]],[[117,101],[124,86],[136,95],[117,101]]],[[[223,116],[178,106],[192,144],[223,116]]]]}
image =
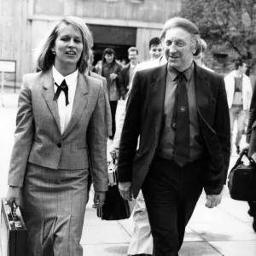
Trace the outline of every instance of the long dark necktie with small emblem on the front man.
{"type": "Polygon", "coordinates": [[[177,93],[172,118],[172,128],[176,130],[173,156],[178,166],[184,166],[189,160],[189,101],[184,74],[179,73],[177,78],[177,93]]]}

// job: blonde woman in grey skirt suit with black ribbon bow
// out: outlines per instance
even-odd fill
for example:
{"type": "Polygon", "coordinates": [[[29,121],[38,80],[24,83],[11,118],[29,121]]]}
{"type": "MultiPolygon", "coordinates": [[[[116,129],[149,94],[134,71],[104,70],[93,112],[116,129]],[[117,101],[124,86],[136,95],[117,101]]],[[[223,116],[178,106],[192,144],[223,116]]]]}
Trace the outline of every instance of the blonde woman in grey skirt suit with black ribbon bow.
{"type": "Polygon", "coordinates": [[[42,71],[23,78],[7,201],[23,201],[29,256],[82,256],[89,163],[94,207],[108,189],[103,85],[84,75],[91,46],[84,21],[66,17],[41,49],[42,71]]]}

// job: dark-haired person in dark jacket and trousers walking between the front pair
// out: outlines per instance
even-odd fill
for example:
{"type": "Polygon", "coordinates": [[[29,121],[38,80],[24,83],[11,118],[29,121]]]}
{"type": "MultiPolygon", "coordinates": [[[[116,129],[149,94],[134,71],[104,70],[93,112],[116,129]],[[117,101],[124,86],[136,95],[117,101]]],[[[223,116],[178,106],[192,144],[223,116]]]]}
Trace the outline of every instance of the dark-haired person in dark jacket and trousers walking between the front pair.
{"type": "Polygon", "coordinates": [[[120,87],[119,73],[122,69],[122,64],[115,60],[115,52],[112,48],[106,48],[103,51],[102,61],[96,65],[96,73],[107,79],[108,96],[112,114],[112,136],[109,138],[113,140],[116,125],[115,114],[120,96],[125,98],[126,90],[120,87]]]}

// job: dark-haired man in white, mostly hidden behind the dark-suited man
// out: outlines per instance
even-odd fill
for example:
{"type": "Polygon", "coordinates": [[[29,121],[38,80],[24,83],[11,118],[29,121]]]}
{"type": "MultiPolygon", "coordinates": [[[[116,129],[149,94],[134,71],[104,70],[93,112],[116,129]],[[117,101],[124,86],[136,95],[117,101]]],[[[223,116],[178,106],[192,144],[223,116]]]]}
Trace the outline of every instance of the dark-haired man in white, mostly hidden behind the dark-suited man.
{"type": "MultiPolygon", "coordinates": [[[[162,54],[162,44],[160,42],[160,38],[152,38],[149,41],[149,54],[151,55],[151,59],[150,61],[139,63],[136,67],[136,72],[138,70],[143,70],[150,67],[159,67],[166,64],[166,57],[163,55],[159,55],[159,53],[162,54]]],[[[119,116],[117,131],[113,138],[113,150],[111,154],[114,155],[119,154],[119,143],[121,131],[124,125],[125,113],[126,112],[124,108],[119,116]]],[[[128,255],[152,255],[153,239],[151,236],[151,229],[148,223],[148,212],[143,198],[143,193],[141,191],[137,196],[132,216],[134,220],[134,230],[132,232],[130,245],[128,247],[128,255]]]]}

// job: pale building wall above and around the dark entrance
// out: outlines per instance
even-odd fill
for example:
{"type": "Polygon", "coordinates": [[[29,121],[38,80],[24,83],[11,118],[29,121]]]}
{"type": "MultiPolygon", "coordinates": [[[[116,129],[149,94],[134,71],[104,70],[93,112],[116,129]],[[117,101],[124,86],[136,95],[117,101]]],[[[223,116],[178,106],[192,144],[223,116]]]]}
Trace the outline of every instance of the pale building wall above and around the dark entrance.
{"type": "Polygon", "coordinates": [[[0,59],[17,61],[17,80],[34,70],[33,53],[55,22],[76,15],[87,24],[133,27],[141,61],[148,41],[181,8],[181,0],[0,0],[0,59]]]}

